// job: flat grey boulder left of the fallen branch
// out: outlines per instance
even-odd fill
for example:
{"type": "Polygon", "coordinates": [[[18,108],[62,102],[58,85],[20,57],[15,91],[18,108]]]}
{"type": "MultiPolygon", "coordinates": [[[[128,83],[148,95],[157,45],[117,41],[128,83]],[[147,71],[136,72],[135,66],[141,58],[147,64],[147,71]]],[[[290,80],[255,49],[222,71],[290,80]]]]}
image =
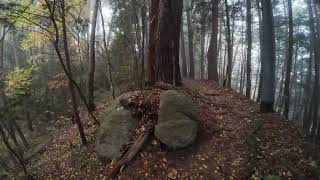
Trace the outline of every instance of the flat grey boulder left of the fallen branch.
{"type": "Polygon", "coordinates": [[[122,155],[122,148],[130,142],[137,120],[129,110],[121,106],[121,101],[134,95],[137,95],[137,92],[119,96],[98,116],[101,126],[97,131],[95,149],[101,160],[118,159],[122,155]]]}

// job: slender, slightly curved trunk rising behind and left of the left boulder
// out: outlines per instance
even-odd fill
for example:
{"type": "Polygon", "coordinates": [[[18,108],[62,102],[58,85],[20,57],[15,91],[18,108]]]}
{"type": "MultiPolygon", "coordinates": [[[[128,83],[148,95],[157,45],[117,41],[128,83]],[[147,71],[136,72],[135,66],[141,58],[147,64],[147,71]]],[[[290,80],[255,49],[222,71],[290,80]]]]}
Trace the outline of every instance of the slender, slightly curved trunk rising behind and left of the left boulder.
{"type": "Polygon", "coordinates": [[[88,105],[91,111],[96,109],[94,104],[94,73],[96,69],[96,25],[100,0],[95,0],[93,15],[91,20],[91,33],[89,44],[89,73],[88,73],[88,105]]]}

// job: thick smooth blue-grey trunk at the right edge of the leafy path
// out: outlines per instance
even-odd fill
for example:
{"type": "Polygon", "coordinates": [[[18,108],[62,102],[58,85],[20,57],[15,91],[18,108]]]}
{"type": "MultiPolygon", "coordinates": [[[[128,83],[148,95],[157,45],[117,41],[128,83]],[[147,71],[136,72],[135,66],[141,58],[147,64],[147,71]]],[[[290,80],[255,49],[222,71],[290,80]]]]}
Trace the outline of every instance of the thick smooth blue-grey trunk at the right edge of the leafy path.
{"type": "Polygon", "coordinates": [[[262,51],[262,82],[261,112],[273,112],[275,93],[275,39],[273,29],[272,4],[262,0],[263,51],[262,51]]]}

